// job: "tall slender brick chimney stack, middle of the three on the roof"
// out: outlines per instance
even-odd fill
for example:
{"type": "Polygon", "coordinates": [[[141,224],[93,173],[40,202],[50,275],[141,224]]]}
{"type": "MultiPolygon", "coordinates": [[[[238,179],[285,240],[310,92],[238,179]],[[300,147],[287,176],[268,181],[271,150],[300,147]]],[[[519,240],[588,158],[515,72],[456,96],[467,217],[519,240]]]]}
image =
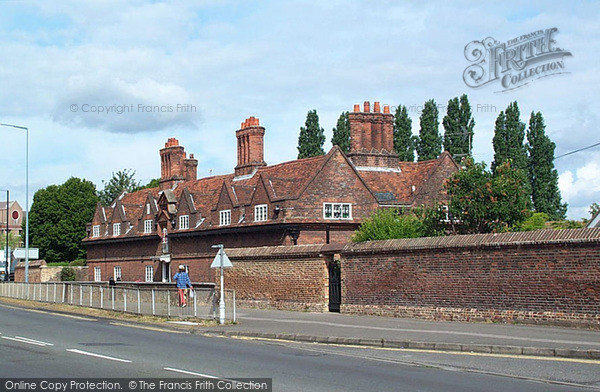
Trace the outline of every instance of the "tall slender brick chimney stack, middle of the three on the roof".
{"type": "Polygon", "coordinates": [[[264,160],[265,128],[260,126],[258,118],[249,117],[235,132],[238,140],[238,164],[235,175],[252,174],[260,166],[266,166],[264,160]]]}

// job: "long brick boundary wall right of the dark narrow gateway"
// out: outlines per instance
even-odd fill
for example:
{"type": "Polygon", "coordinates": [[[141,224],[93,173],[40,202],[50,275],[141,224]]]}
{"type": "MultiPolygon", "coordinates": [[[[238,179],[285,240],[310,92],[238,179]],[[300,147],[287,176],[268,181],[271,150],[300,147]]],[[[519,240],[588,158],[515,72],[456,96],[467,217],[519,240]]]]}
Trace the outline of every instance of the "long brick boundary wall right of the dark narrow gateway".
{"type": "Polygon", "coordinates": [[[600,327],[600,229],[372,241],[341,254],[343,313],[600,327]]]}

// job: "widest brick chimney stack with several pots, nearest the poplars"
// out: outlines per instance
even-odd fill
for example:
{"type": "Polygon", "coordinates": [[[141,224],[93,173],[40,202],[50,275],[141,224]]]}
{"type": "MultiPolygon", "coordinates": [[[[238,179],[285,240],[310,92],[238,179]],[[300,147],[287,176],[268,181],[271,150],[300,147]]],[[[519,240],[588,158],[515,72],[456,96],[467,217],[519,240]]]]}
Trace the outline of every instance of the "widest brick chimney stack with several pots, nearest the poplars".
{"type": "Polygon", "coordinates": [[[379,102],[365,101],[363,111],[360,105],[354,105],[354,111],[348,113],[350,122],[350,152],[348,157],[357,166],[395,165],[394,151],[394,115],[385,105],[383,113],[379,102]]]}

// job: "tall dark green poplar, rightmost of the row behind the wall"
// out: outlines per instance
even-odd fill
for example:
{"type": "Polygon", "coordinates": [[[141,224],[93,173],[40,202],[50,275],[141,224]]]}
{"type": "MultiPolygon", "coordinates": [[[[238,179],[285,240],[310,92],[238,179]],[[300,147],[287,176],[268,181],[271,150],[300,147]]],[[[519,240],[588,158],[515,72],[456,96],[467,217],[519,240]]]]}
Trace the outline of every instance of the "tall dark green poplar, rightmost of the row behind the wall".
{"type": "Polygon", "coordinates": [[[561,203],[558,189],[558,172],[554,168],[556,145],[545,132],[544,118],[540,112],[531,112],[527,131],[529,182],[533,208],[545,212],[550,219],[564,219],[567,204],[561,203]]]}

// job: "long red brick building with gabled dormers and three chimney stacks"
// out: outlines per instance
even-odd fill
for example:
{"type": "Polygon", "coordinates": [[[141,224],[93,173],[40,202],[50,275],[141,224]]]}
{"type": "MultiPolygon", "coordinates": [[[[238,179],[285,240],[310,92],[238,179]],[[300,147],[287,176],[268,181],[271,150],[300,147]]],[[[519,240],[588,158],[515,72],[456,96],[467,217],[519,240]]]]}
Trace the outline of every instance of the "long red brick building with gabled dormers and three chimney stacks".
{"type": "Polygon", "coordinates": [[[213,244],[226,248],[346,242],[378,208],[411,208],[446,199],[443,183],[459,167],[438,159],[401,162],[393,148],[393,115],[365,102],[349,113],[351,151],[273,166],[264,161],[265,128],[254,117],[237,137],[237,166],[197,179],[198,161],[177,139],[160,150],[160,187],[98,204],[89,225],[91,280],[169,281],[172,264],[194,281],[212,281],[213,244]]]}

